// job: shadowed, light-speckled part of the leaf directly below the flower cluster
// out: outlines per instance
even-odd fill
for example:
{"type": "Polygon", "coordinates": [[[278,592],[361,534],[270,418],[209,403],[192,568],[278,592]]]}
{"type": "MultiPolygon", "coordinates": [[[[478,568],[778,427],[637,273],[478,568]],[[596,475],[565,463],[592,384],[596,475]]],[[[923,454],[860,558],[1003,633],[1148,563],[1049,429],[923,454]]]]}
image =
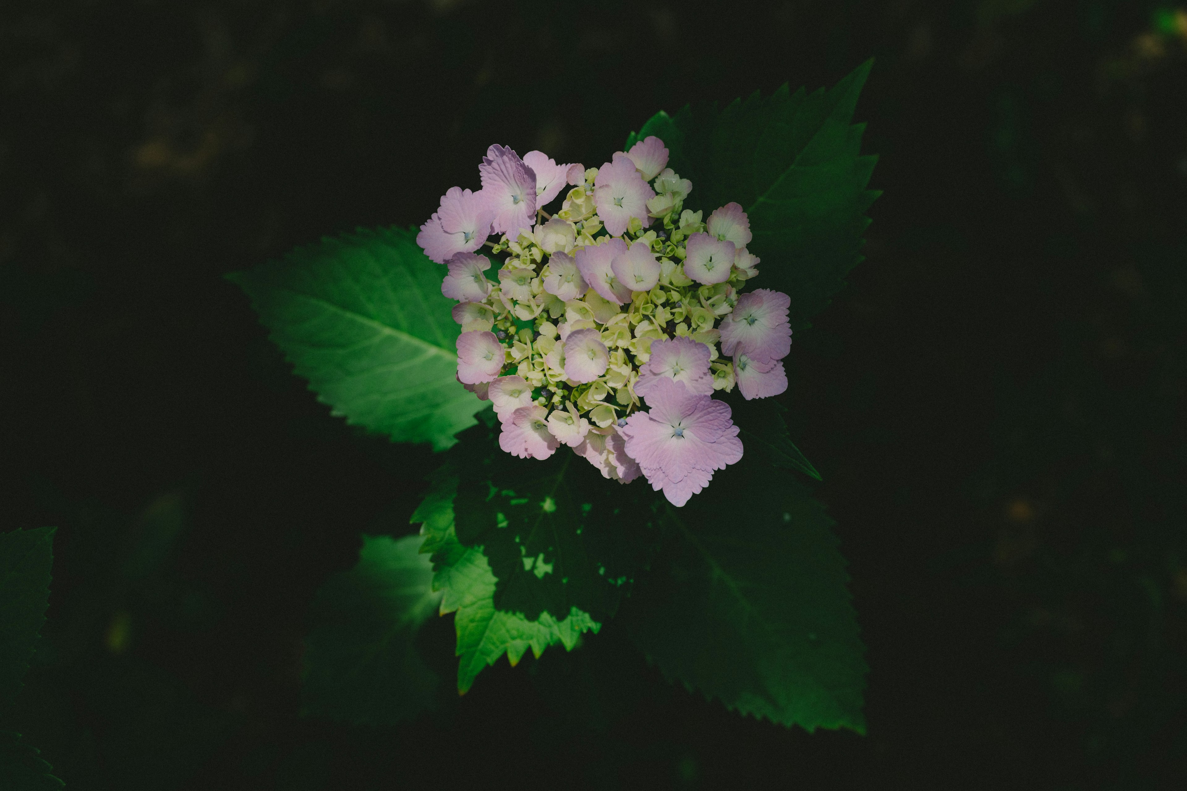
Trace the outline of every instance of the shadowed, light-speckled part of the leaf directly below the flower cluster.
{"type": "Polygon", "coordinates": [[[611,618],[654,553],[662,497],[642,483],[603,478],[567,447],[545,460],[519,459],[495,435],[469,429],[450,451],[457,537],[483,547],[499,580],[495,606],[528,620],[573,608],[611,618]]]}

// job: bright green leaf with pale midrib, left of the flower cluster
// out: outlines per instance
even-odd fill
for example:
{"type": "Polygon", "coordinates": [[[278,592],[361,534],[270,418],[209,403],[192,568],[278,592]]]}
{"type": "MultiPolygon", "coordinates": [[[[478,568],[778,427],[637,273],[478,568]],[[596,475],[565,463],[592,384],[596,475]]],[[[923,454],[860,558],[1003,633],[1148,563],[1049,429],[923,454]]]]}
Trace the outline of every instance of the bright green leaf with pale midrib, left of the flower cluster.
{"type": "Polygon", "coordinates": [[[456,377],[461,327],[444,274],[412,230],[391,228],[323,238],[228,278],[335,415],[443,449],[485,406],[456,377]]]}

